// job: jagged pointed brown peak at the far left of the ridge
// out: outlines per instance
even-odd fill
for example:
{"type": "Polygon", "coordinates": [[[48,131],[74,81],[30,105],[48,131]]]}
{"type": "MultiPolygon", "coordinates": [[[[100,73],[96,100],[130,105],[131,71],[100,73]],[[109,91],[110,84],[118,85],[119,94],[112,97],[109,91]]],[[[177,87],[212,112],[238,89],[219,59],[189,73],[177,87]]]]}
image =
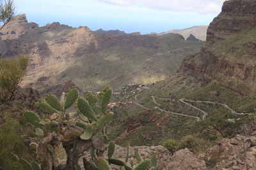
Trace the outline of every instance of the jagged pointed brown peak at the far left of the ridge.
{"type": "Polygon", "coordinates": [[[38,24],[29,22],[25,14],[17,15],[0,31],[0,39],[18,39],[22,34],[38,28],[38,24]]]}

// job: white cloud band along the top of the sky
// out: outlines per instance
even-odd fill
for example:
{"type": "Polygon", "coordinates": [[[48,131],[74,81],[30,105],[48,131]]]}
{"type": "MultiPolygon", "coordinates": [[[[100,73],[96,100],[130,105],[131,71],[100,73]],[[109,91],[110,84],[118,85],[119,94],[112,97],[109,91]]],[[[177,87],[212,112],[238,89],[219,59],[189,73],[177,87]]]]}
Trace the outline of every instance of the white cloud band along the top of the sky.
{"type": "Polygon", "coordinates": [[[198,13],[219,13],[225,0],[98,0],[104,3],[124,6],[143,6],[157,10],[193,11],[198,13]]]}

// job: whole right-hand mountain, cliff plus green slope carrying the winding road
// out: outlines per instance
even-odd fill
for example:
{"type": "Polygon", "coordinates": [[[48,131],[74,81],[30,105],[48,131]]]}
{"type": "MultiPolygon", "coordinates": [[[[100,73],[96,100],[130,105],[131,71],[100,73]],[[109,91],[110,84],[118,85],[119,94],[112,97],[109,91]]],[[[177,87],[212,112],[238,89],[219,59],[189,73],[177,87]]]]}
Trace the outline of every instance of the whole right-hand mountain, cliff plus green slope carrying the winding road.
{"type": "Polygon", "coordinates": [[[161,145],[192,135],[209,147],[240,133],[256,113],[255,10],[255,0],[225,1],[200,53],[185,57],[177,74],[117,92],[112,138],[161,145]]]}

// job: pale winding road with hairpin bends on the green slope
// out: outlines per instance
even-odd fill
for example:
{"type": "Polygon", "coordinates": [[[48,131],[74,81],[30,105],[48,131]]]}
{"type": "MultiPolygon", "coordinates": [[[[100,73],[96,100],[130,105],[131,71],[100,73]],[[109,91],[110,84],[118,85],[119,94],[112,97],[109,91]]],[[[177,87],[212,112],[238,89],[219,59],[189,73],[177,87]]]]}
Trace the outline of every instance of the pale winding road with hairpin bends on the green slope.
{"type": "MultiPolygon", "coordinates": [[[[134,96],[134,99],[137,100],[137,96],[134,96]]],[[[184,115],[182,113],[175,113],[175,112],[172,112],[172,111],[167,111],[167,110],[164,110],[164,109],[161,109],[159,108],[159,106],[161,106],[161,104],[157,103],[156,102],[156,96],[151,96],[152,99],[153,99],[153,102],[157,105],[156,109],[159,110],[159,111],[163,111],[165,113],[171,113],[173,115],[179,115],[179,116],[182,116],[182,117],[190,117],[190,118],[196,118],[197,122],[200,122],[201,121],[201,118],[200,117],[194,117],[194,116],[191,116],[191,115],[184,115]]],[[[166,98],[161,98],[161,97],[157,97],[158,99],[161,99],[161,100],[170,100],[170,99],[166,99],[166,98]]],[[[180,102],[181,103],[184,103],[186,105],[188,105],[189,107],[195,109],[195,110],[198,110],[200,112],[203,113],[203,117],[202,117],[202,120],[205,120],[205,118],[207,117],[208,113],[204,110],[200,110],[200,108],[196,108],[196,106],[193,106],[192,104],[189,104],[188,102],[190,103],[210,103],[210,104],[219,104],[221,106],[224,106],[225,108],[227,108],[228,110],[230,110],[233,114],[235,115],[253,115],[252,113],[237,113],[235,110],[232,110],[232,108],[230,108],[227,104],[222,104],[222,103],[215,103],[215,102],[212,102],[212,101],[192,101],[192,100],[188,100],[188,99],[180,99],[180,102]]],[[[139,103],[134,103],[134,102],[129,102],[131,104],[136,104],[138,106],[141,106],[141,108],[144,108],[144,109],[152,109],[152,108],[146,108],[145,106],[143,106],[142,104],[139,104],[139,103]]],[[[234,122],[234,119],[228,119],[229,122],[234,122]]]]}

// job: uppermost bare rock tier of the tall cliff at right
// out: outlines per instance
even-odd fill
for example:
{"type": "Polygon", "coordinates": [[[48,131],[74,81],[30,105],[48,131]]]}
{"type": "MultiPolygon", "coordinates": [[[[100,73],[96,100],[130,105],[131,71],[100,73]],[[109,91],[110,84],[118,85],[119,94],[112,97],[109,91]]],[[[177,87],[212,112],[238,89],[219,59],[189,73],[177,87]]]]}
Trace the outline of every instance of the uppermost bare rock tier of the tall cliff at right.
{"type": "Polygon", "coordinates": [[[221,36],[233,34],[256,27],[256,1],[225,1],[218,17],[209,25],[207,41],[221,39],[221,36]]]}

